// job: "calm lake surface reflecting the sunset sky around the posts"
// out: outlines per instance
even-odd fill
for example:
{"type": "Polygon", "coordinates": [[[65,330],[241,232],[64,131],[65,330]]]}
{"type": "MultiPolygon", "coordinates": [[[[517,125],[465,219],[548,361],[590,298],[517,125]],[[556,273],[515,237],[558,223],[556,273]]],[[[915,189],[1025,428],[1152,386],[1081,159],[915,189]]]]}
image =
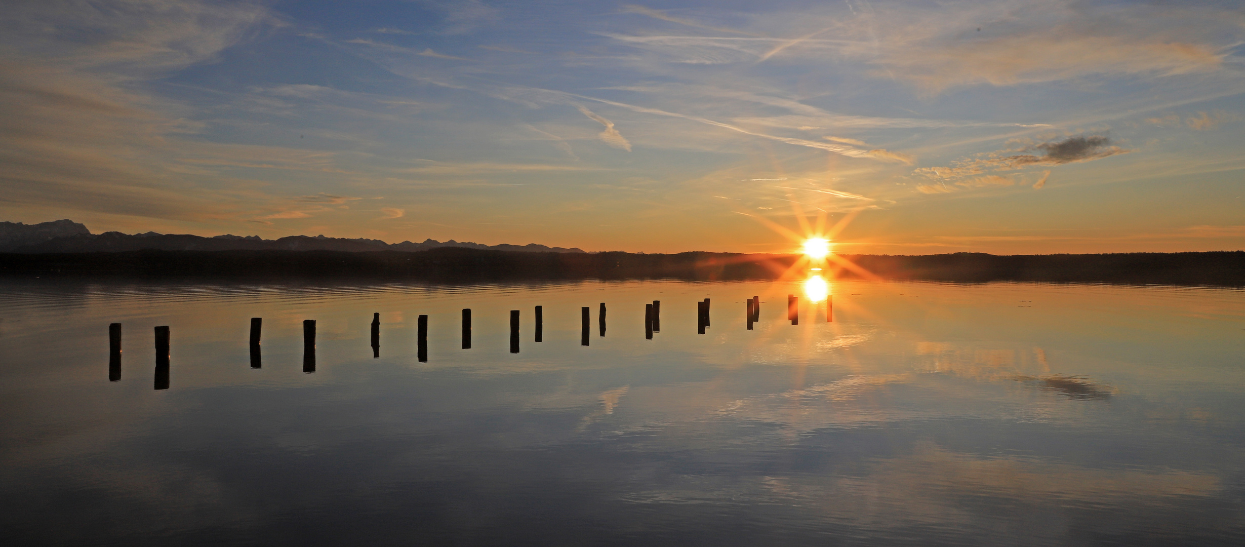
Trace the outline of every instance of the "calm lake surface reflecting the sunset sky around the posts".
{"type": "Polygon", "coordinates": [[[799,283],[4,280],[0,527],[73,546],[1245,545],[1245,292],[830,292],[833,323],[802,303],[792,325],[799,283]]]}

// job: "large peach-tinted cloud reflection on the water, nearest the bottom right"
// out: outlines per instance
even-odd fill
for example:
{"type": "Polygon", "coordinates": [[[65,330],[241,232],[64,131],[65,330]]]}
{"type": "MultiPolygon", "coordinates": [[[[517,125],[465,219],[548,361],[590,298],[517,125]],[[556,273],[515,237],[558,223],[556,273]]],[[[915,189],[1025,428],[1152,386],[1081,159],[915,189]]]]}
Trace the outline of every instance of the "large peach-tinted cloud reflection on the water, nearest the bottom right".
{"type": "Polygon", "coordinates": [[[853,525],[959,523],[955,527],[971,528],[971,522],[987,518],[1000,500],[1020,506],[1059,500],[1155,507],[1221,490],[1219,477],[1209,473],[982,457],[928,442],[913,454],[867,464],[850,473],[682,475],[667,480],[661,488],[627,492],[620,498],[670,505],[781,503],[832,512],[835,520],[853,525]]]}

